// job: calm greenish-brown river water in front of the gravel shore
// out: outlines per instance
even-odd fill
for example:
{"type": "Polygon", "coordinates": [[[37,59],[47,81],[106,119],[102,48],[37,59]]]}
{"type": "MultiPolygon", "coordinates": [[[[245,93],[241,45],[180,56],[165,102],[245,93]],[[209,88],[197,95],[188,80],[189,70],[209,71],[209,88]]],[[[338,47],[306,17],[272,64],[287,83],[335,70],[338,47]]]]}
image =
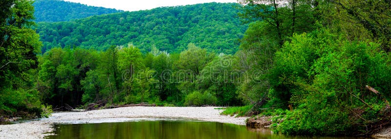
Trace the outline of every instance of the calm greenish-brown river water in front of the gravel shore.
{"type": "Polygon", "coordinates": [[[57,124],[54,133],[46,139],[314,139],[275,135],[269,130],[247,129],[243,125],[184,120],[57,124]]]}

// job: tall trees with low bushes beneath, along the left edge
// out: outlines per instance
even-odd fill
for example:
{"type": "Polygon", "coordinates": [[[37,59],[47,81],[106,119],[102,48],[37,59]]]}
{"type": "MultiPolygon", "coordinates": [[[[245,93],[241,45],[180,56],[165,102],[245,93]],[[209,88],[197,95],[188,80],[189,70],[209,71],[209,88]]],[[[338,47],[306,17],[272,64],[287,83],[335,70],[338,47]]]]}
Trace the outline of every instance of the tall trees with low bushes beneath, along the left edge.
{"type": "Polygon", "coordinates": [[[41,100],[32,79],[42,43],[31,29],[30,0],[0,1],[0,118],[40,116],[41,100]]]}

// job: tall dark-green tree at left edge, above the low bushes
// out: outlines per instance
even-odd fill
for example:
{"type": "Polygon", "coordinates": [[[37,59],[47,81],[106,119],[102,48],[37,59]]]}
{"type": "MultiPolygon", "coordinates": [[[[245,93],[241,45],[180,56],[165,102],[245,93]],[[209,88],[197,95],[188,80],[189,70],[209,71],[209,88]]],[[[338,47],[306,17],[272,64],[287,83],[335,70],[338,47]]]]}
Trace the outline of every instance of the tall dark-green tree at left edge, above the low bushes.
{"type": "Polygon", "coordinates": [[[42,43],[31,29],[32,1],[2,0],[0,4],[0,84],[16,89],[26,80],[26,71],[37,67],[42,43]]]}

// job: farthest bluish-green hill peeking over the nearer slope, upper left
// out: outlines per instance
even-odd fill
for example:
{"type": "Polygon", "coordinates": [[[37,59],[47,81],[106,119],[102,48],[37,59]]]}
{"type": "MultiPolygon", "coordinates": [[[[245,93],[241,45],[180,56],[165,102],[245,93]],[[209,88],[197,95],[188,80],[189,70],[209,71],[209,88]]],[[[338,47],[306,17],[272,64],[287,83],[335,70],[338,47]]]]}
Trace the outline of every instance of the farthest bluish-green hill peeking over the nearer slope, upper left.
{"type": "Polygon", "coordinates": [[[37,22],[69,21],[94,15],[123,12],[121,10],[87,6],[63,0],[35,0],[33,6],[35,7],[35,21],[37,22]]]}

